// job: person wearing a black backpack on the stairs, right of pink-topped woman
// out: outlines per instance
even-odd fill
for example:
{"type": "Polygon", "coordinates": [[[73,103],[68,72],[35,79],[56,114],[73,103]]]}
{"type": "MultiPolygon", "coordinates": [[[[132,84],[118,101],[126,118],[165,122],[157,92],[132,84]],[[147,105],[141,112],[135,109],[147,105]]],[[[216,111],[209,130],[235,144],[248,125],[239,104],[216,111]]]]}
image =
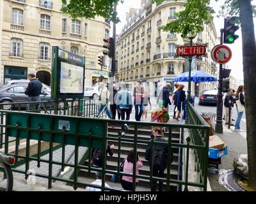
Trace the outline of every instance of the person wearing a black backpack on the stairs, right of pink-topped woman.
{"type": "MultiPolygon", "coordinates": [[[[161,128],[152,128],[152,136],[154,136],[154,142],[167,142],[163,138],[163,131],[161,128]]],[[[165,145],[153,145],[151,149],[151,144],[148,144],[145,159],[149,161],[150,171],[152,171],[153,177],[164,178],[164,170],[166,168],[168,155],[168,147],[165,145]],[[151,151],[153,150],[153,157],[151,157],[151,151]],[[153,160],[153,161],[152,161],[153,160]],[[153,166],[152,166],[153,165],[153,166]]],[[[171,152],[171,163],[172,163],[172,152],[171,152]]],[[[156,191],[157,182],[153,181],[151,186],[151,191],[156,191]]],[[[159,181],[159,191],[163,191],[163,182],[159,181]]]]}

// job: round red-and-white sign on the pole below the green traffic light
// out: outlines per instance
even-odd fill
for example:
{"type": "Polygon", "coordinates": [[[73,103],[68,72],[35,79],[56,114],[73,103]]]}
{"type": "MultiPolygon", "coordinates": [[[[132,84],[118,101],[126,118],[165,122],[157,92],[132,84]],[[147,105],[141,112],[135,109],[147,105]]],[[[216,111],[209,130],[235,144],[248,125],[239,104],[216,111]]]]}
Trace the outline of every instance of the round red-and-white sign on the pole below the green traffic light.
{"type": "Polygon", "coordinates": [[[232,57],[232,51],[227,45],[216,45],[212,48],[211,57],[214,62],[226,64],[232,57]]]}

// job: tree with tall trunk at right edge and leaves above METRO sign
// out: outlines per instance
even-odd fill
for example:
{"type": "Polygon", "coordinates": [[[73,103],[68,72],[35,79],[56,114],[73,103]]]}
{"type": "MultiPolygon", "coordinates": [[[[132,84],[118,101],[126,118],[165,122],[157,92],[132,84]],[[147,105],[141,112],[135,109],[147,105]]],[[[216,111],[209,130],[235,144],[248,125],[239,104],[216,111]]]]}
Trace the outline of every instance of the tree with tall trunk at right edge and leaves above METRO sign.
{"type": "MultiPolygon", "coordinates": [[[[155,1],[157,3],[163,2],[163,0],[155,1]]],[[[209,4],[210,0],[188,0],[185,4],[185,10],[177,13],[177,20],[164,25],[162,29],[171,33],[180,33],[182,37],[186,37],[189,33],[199,33],[203,31],[204,24],[211,22],[212,14],[214,13],[214,10],[212,10],[209,4]]],[[[227,15],[239,15],[242,28],[249,166],[248,185],[256,190],[256,43],[253,25],[253,15],[255,16],[256,10],[255,6],[252,6],[251,0],[226,0],[225,5],[227,15]]]]}

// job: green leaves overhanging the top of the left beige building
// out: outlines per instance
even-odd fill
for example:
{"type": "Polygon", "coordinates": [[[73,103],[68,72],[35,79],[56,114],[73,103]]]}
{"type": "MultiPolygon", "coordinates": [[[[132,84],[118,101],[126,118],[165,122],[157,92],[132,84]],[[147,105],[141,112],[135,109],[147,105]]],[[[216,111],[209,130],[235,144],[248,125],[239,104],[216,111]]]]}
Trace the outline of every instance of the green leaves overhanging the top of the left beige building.
{"type": "Polygon", "coordinates": [[[112,22],[119,22],[114,6],[123,0],[62,0],[64,6],[61,11],[69,13],[72,18],[95,18],[101,16],[112,22]]]}

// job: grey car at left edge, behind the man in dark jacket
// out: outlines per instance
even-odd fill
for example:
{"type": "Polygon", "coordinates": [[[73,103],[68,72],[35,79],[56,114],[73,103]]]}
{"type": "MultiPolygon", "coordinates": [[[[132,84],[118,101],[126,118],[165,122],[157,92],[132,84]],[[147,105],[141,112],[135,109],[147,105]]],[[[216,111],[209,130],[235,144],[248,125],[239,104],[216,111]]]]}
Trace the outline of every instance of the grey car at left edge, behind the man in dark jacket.
{"type": "MultiPolygon", "coordinates": [[[[24,85],[11,85],[8,87],[2,87],[0,90],[0,103],[19,103],[19,102],[28,102],[28,96],[24,94],[26,84],[24,85]]],[[[50,100],[51,92],[47,92],[42,89],[40,94],[40,100],[50,100]]],[[[26,108],[26,104],[20,105],[20,108],[26,108]]],[[[18,108],[18,105],[4,105],[4,110],[12,110],[13,108],[18,108]]]]}

